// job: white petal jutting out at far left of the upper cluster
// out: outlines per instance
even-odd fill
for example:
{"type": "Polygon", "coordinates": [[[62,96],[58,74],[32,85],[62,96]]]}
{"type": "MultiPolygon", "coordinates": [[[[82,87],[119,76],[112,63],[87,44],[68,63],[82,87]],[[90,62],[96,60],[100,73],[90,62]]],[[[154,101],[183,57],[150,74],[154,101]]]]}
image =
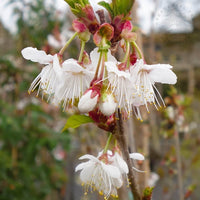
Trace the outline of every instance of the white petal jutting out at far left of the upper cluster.
{"type": "Polygon", "coordinates": [[[52,55],[47,55],[45,51],[37,50],[33,47],[26,47],[22,49],[21,53],[25,59],[33,62],[39,62],[40,64],[49,64],[53,61],[52,55]]]}

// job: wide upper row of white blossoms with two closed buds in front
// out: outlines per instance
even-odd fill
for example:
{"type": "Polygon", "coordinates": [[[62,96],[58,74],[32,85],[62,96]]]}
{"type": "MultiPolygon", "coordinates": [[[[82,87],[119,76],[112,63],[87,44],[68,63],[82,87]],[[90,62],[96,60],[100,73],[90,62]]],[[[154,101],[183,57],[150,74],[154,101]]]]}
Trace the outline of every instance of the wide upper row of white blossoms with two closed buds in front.
{"type": "Polygon", "coordinates": [[[98,48],[90,53],[88,63],[71,58],[62,61],[59,54],[47,55],[32,47],[23,49],[22,55],[45,65],[32,82],[29,92],[38,86],[42,97],[47,95],[54,104],[62,104],[64,110],[74,106],[82,113],[97,110],[110,117],[119,108],[124,116],[130,116],[134,111],[142,119],[141,105],[145,105],[148,112],[148,103],[153,103],[156,109],[161,107],[161,103],[164,105],[155,83],[176,83],[171,65],[147,65],[143,59],[127,65],[117,61],[110,51],[102,53],[98,52],[98,48]],[[107,61],[102,56],[106,56],[107,61]]]}

